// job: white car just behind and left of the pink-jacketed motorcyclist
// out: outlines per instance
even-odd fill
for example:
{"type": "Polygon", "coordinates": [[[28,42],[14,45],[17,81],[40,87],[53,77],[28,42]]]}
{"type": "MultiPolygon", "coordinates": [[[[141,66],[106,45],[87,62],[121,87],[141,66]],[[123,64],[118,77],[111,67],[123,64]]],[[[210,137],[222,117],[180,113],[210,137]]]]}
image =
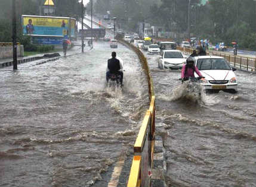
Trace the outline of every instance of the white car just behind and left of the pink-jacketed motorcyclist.
{"type": "Polygon", "coordinates": [[[158,67],[161,69],[181,69],[187,60],[180,50],[162,50],[160,56],[158,67]]]}

